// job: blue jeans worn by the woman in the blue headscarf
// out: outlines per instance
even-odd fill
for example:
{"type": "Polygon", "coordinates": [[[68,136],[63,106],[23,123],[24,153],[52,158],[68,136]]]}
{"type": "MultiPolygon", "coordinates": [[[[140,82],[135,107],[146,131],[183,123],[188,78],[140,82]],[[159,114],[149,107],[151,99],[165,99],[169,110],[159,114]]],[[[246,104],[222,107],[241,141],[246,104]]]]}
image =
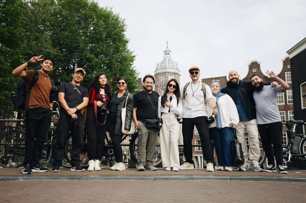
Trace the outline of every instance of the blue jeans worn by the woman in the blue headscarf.
{"type": "Polygon", "coordinates": [[[212,127],[209,130],[214,141],[218,166],[234,166],[230,149],[230,141],[233,140],[233,129],[230,127],[221,129],[212,127]]]}

